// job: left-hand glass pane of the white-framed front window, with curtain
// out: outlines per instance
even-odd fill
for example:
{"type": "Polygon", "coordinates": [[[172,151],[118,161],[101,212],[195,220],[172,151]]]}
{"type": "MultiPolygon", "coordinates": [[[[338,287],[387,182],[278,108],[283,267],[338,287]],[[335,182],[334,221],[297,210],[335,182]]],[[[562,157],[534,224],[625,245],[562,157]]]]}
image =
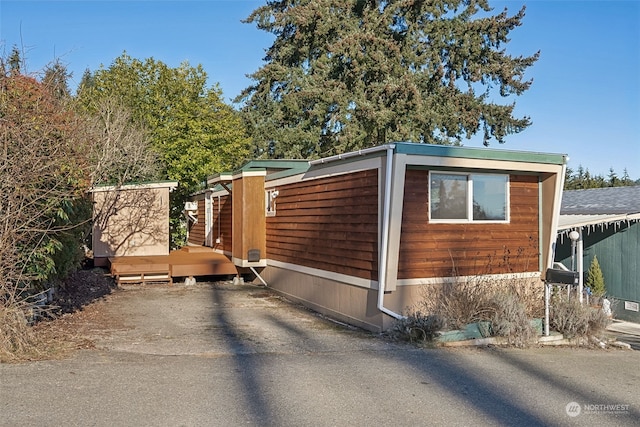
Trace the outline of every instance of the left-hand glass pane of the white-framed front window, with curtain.
{"type": "Polygon", "coordinates": [[[467,175],[431,174],[431,218],[467,219],[467,175]]]}

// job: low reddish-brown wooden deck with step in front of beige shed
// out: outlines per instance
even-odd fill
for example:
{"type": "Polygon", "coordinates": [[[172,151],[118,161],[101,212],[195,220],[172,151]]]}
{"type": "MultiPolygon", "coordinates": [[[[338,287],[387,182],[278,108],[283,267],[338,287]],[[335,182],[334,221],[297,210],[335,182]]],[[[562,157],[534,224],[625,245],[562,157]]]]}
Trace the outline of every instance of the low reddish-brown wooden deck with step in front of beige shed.
{"type": "Polygon", "coordinates": [[[204,246],[185,246],[169,255],[109,258],[111,275],[121,283],[173,283],[174,277],[238,274],[225,255],[204,246]]]}

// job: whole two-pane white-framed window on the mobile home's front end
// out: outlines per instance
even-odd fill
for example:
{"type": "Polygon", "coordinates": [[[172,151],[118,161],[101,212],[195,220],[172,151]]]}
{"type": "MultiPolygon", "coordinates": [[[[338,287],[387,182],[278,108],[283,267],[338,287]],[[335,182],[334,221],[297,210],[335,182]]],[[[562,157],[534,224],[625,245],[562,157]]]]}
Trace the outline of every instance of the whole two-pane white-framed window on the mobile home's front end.
{"type": "Polygon", "coordinates": [[[429,219],[435,222],[507,222],[509,175],[429,173],[429,219]]]}

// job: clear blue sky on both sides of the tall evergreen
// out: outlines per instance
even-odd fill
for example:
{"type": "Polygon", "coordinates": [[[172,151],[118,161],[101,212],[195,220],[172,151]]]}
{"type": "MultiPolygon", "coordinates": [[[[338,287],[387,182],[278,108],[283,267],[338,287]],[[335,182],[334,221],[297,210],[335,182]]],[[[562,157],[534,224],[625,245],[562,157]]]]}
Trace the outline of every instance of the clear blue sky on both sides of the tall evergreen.
{"type": "MultiPolygon", "coordinates": [[[[251,82],[273,40],[243,24],[264,1],[0,0],[0,52],[15,44],[30,72],[58,58],[73,72],[109,66],[126,51],[170,66],[202,64],[229,101],[251,82]]],[[[531,89],[515,98],[533,124],[492,148],[566,153],[569,167],[640,178],[640,1],[491,1],[510,14],[526,4],[507,51],[540,60],[531,89]]],[[[479,138],[464,141],[481,146],[479,138]]]]}

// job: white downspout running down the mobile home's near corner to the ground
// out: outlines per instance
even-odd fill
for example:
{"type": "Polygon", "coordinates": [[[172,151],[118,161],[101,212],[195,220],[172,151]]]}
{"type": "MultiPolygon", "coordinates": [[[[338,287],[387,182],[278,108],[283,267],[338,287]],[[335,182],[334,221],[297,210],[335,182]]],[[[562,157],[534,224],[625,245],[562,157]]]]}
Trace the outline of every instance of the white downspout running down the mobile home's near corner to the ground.
{"type": "Polygon", "coordinates": [[[382,211],[382,240],[380,242],[380,260],[378,262],[378,310],[395,318],[405,316],[384,307],[384,288],[387,280],[387,264],[389,257],[389,228],[391,222],[391,183],[393,181],[393,155],[395,145],[387,145],[387,169],[384,183],[384,201],[382,211]]]}

